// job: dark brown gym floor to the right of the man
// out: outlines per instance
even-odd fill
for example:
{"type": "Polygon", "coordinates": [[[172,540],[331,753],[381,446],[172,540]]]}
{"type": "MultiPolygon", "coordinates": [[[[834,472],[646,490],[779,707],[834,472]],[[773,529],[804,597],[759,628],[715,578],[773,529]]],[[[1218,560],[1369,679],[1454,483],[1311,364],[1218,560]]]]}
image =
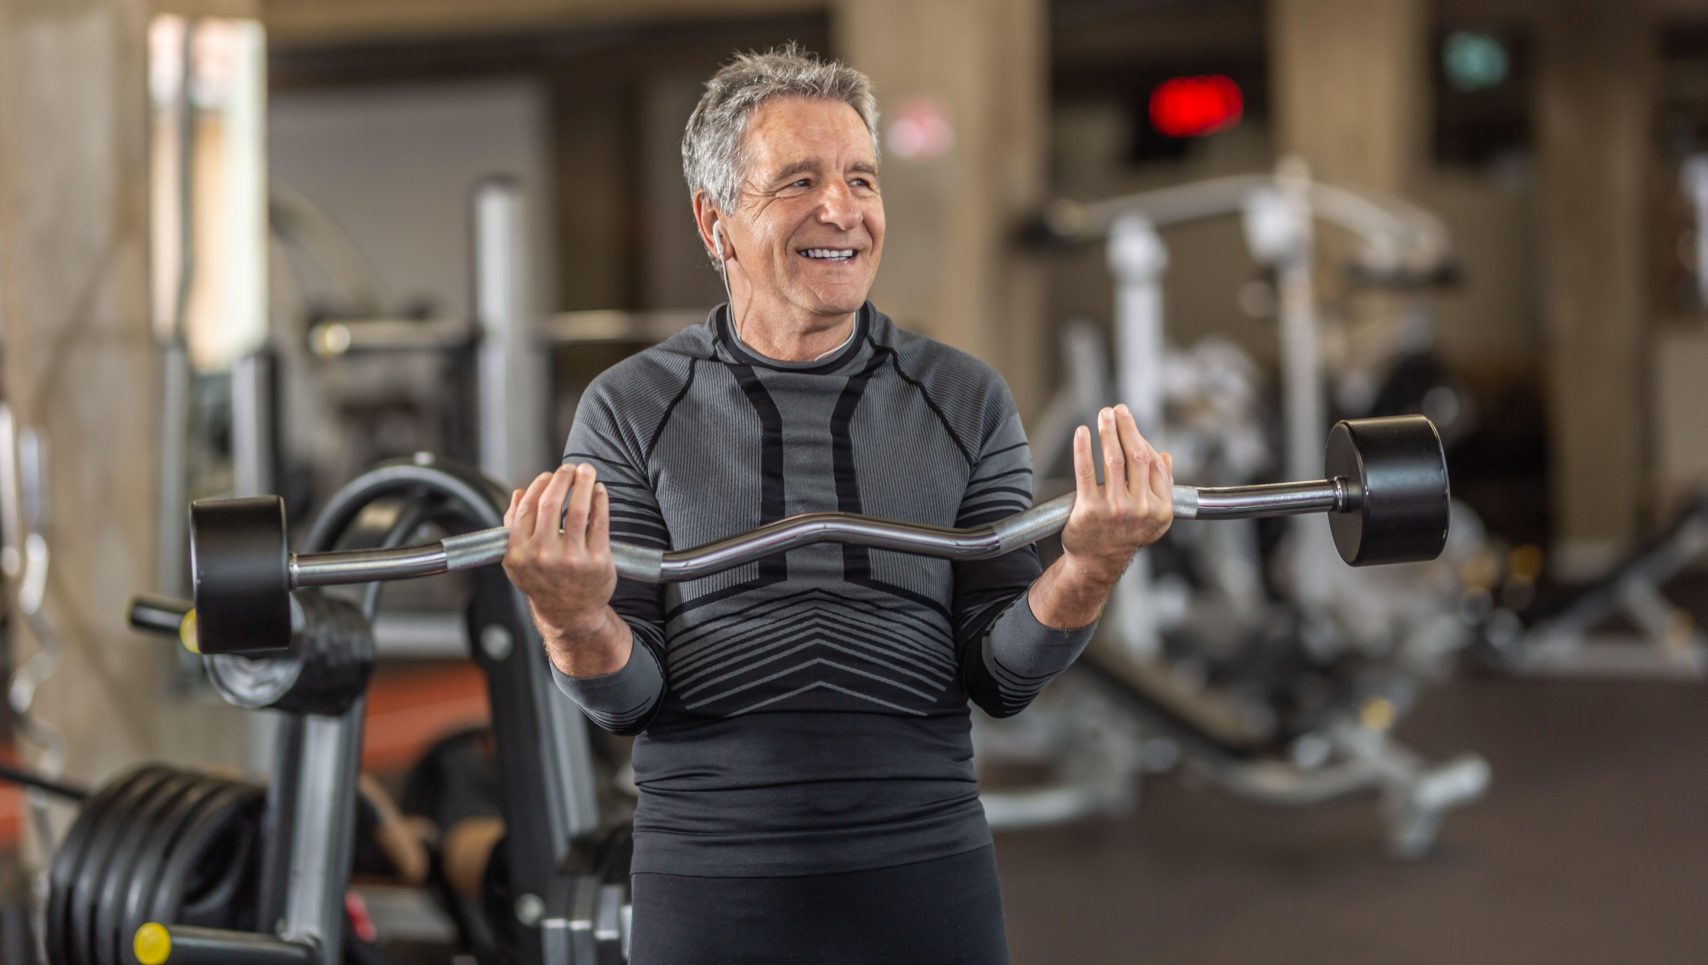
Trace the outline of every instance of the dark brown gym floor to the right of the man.
{"type": "Polygon", "coordinates": [[[1421,863],[1375,801],[1146,784],[1124,820],[997,839],[1015,965],[1708,962],[1708,688],[1457,680],[1401,728],[1484,755],[1421,863]]]}

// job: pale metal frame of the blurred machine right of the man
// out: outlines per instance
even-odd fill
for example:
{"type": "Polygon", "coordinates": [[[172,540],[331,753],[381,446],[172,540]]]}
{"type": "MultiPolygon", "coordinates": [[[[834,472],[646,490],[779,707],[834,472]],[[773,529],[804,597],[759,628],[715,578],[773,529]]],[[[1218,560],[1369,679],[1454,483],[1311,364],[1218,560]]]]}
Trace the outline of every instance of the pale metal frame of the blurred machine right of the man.
{"type": "MultiPolygon", "coordinates": [[[[1068,383],[1032,434],[1033,459],[1040,470],[1062,459],[1076,425],[1115,400],[1132,408],[1146,437],[1170,447],[1163,425],[1167,347],[1161,299],[1168,251],[1158,229],[1221,215],[1240,215],[1254,258],[1276,270],[1286,475],[1315,458],[1327,427],[1312,282],[1313,219],[1337,224],[1361,241],[1358,268],[1368,277],[1421,280],[1447,268],[1448,236],[1438,219],[1399,198],[1312,181],[1291,161],[1284,161],[1276,174],[1216,178],[1095,203],[1057,202],[1044,217],[1045,234],[1056,241],[1107,243],[1108,268],[1115,280],[1115,384],[1110,386],[1105,374],[1110,354],[1103,348],[1102,336],[1090,326],[1069,326],[1064,331],[1068,383]]],[[[1231,531],[1218,536],[1223,543],[1235,541],[1231,531]]],[[[1358,591],[1360,586],[1348,570],[1331,564],[1331,538],[1329,528],[1305,518],[1291,531],[1291,591],[1307,620],[1327,620],[1325,611],[1336,596],[1358,591]]],[[[1255,536],[1247,541],[1255,545],[1255,536]]],[[[1238,555],[1237,550],[1221,553],[1238,555]]],[[[1254,567],[1255,560],[1223,559],[1213,569],[1221,579],[1243,586],[1257,579],[1254,567]]],[[[1240,586],[1223,589],[1230,599],[1242,596],[1240,586]]],[[[1447,811],[1481,798],[1488,787],[1489,769],[1481,757],[1460,755],[1428,763],[1392,740],[1387,728],[1418,690],[1399,673],[1373,676],[1334,714],[1334,721],[1307,734],[1308,740],[1295,746],[1295,752],[1308,750],[1305,757],[1310,760],[1301,763],[1262,753],[1254,745],[1261,741],[1261,734],[1242,722],[1237,707],[1221,705],[1211,695],[1185,685],[1158,659],[1161,627],[1156,615],[1165,610],[1161,603],[1153,588],[1149,560],[1141,553],[1115,591],[1103,637],[1081,656],[1078,671],[1071,671],[1095,680],[1095,692],[1107,697],[1102,721],[1081,722],[1079,729],[1117,733],[1122,724],[1115,717],[1122,712],[1141,721],[1138,752],[1110,755],[1108,748],[1085,741],[1085,734],[1076,736],[1083,755],[1107,757],[1105,767],[1124,769],[1126,781],[1068,779],[1028,791],[987,791],[986,806],[992,825],[1013,822],[1011,827],[1030,827],[1040,823],[1035,820],[1038,813],[1047,813],[1052,820],[1074,820],[1120,810],[1129,806],[1129,786],[1139,774],[1167,769],[1184,758],[1223,789],[1271,804],[1312,804],[1378,791],[1385,801],[1392,851],[1416,857],[1433,845],[1447,811]],[[1108,642],[1115,646],[1103,646],[1108,642]],[[1368,721],[1363,719],[1366,711],[1368,721]],[[1172,750],[1160,757],[1144,752],[1146,736],[1163,738],[1172,750]]],[[[1469,639],[1469,627],[1459,627],[1454,646],[1467,644],[1469,639]]],[[[982,743],[992,748],[1013,745],[1004,731],[1027,726],[984,722],[982,743]]],[[[1037,722],[1030,726],[1035,728],[1037,722]]],[[[1018,748],[1020,757],[1038,757],[1042,746],[1049,746],[1042,752],[1047,760],[1061,762],[1064,755],[1081,753],[1073,746],[1044,741],[1040,746],[1018,748]]],[[[1068,762],[1062,770],[1066,774],[1088,767],[1068,762]]]]}

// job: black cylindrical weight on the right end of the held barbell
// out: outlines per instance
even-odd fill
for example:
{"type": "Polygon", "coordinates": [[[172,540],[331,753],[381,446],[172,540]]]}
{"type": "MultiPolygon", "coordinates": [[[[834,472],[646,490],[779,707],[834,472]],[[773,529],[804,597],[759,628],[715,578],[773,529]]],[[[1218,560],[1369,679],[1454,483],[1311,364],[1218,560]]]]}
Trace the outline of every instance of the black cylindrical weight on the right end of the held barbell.
{"type": "Polygon", "coordinates": [[[1452,490],[1447,449],[1421,415],[1354,418],[1329,430],[1327,477],[1358,483],[1354,506],[1329,514],[1341,559],[1354,567],[1433,560],[1447,548],[1452,490]]]}

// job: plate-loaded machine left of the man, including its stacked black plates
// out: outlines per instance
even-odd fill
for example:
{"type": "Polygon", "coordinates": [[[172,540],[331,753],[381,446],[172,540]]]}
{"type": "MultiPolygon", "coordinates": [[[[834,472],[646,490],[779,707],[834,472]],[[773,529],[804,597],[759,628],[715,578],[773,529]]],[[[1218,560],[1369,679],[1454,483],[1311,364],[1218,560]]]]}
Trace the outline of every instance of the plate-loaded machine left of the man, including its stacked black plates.
{"type": "MultiPolygon", "coordinates": [[[[424,531],[483,529],[502,523],[507,506],[509,494],[473,468],[398,459],[333,495],[302,550],[386,550],[424,531]]],[[[278,509],[273,523],[282,533],[278,509]]],[[[212,536],[198,540],[196,555],[207,557],[212,536]]],[[[471,579],[466,639],[487,680],[506,837],[488,866],[482,927],[463,938],[483,963],[622,962],[629,825],[601,822],[586,719],[557,692],[526,603],[497,567],[471,579]]],[[[53,856],[51,963],[347,960],[345,886],[379,591],[366,584],[359,601],[297,593],[284,613],[289,647],[203,656],[227,702],[282,712],[270,779],[263,789],[145,765],[91,796],[53,856]]],[[[195,647],[196,620],[186,611],[143,598],[132,622],[195,647]]]]}

